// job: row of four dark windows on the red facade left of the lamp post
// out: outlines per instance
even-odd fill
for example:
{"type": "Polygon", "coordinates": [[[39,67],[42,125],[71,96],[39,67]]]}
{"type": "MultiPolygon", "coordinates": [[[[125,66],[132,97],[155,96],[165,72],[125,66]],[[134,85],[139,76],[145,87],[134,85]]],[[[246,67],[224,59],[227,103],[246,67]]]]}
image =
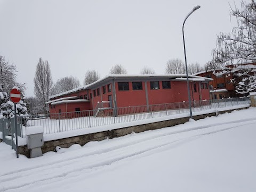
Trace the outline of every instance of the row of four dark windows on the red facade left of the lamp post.
{"type": "MultiPolygon", "coordinates": [[[[170,81],[162,82],[163,89],[171,89],[170,81]]],[[[150,89],[160,89],[159,82],[150,82],[150,89]]],[[[118,91],[129,91],[129,82],[118,82],[118,91]]],[[[132,90],[143,90],[142,82],[132,82],[132,90]]]]}

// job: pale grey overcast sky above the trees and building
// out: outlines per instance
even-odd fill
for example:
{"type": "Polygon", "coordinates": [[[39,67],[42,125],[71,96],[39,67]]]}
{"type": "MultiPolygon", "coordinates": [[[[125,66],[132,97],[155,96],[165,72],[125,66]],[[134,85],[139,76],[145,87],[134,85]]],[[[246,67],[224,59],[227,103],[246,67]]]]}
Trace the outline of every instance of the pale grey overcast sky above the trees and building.
{"type": "Polygon", "coordinates": [[[54,82],[72,75],[82,84],[88,69],[104,77],[116,64],[128,74],[143,66],[164,74],[167,60],[184,60],[182,23],[201,5],[186,21],[185,39],[188,63],[204,65],[217,34],[236,23],[229,2],[241,1],[0,0],[0,55],[17,66],[26,96],[34,95],[39,57],[49,61],[54,82]]]}

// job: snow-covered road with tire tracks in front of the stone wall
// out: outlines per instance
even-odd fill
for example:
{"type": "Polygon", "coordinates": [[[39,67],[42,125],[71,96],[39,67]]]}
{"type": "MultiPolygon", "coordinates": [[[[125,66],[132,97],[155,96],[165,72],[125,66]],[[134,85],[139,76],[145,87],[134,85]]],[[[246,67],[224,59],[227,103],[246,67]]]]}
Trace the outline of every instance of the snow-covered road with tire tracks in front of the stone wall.
{"type": "Polygon", "coordinates": [[[59,148],[0,143],[0,191],[256,191],[256,108],[59,148]]]}

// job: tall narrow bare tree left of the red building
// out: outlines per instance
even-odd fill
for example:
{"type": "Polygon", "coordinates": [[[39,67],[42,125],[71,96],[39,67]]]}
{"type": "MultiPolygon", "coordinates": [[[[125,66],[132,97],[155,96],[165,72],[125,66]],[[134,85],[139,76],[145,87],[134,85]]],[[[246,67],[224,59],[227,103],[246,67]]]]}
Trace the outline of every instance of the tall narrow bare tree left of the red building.
{"type": "Polygon", "coordinates": [[[41,102],[41,105],[45,105],[53,89],[51,69],[47,60],[43,61],[42,58],[39,58],[36,66],[34,84],[34,93],[37,99],[41,102]]]}

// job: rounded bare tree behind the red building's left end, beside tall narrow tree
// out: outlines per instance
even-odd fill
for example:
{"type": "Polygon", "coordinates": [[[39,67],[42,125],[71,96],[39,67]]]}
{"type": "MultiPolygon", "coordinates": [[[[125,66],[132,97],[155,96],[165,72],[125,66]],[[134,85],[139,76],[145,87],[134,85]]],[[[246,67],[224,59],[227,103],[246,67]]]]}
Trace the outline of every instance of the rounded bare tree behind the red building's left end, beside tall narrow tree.
{"type": "Polygon", "coordinates": [[[63,77],[54,84],[54,93],[58,94],[81,86],[79,80],[73,76],[63,77]]]}

